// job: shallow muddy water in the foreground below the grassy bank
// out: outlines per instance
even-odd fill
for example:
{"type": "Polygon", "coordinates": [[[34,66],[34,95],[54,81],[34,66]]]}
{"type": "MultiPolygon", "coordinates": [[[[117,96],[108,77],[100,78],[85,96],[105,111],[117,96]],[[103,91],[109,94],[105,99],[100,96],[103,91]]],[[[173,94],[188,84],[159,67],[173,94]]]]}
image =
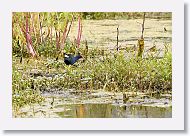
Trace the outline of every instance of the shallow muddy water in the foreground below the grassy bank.
{"type": "Polygon", "coordinates": [[[171,96],[155,98],[103,91],[44,93],[42,104],[25,106],[16,117],[42,118],[171,118],[171,96]]]}

